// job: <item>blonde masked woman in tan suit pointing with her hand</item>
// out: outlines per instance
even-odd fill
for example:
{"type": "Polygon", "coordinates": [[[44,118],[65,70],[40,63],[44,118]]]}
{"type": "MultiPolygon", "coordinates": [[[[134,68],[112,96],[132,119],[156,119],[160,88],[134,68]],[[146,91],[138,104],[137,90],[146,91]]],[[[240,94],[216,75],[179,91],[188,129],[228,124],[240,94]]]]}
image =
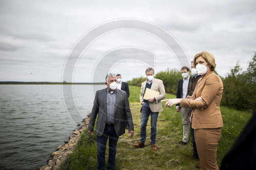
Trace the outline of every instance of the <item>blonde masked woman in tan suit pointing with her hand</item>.
{"type": "Polygon", "coordinates": [[[219,169],[216,161],[217,145],[223,127],[220,102],[223,83],[215,74],[215,57],[202,52],[194,57],[194,65],[202,78],[198,80],[190,99],[167,99],[165,107],[179,104],[193,108],[191,126],[195,130],[195,140],[202,169],[219,169]]]}

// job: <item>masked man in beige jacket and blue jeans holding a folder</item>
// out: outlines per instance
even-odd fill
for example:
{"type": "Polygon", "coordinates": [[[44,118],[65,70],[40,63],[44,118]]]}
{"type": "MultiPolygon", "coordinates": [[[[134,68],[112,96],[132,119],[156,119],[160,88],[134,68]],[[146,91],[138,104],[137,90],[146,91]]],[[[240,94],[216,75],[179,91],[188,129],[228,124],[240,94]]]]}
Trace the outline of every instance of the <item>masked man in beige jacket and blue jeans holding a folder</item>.
{"type": "Polygon", "coordinates": [[[157,134],[157,118],[159,111],[163,111],[161,100],[165,98],[165,90],[163,81],[154,78],[154,68],[146,69],[147,80],[141,84],[140,103],[141,107],[141,123],[140,123],[140,142],[135,143],[134,147],[142,148],[146,140],[146,126],[148,117],[151,115],[151,146],[154,151],[157,150],[155,145],[157,134]],[[160,92],[159,95],[154,96],[148,100],[143,99],[146,88],[160,92]]]}

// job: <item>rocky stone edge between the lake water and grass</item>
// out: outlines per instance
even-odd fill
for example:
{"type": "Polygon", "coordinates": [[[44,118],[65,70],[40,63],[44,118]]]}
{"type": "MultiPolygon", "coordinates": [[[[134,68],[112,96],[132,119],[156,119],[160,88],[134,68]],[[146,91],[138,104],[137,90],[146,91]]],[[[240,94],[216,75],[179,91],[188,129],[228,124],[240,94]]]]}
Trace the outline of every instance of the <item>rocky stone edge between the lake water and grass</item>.
{"type": "Polygon", "coordinates": [[[65,140],[65,144],[59,145],[56,151],[51,154],[51,157],[47,159],[47,165],[44,165],[36,170],[56,170],[62,164],[62,162],[67,158],[69,153],[75,148],[75,145],[80,137],[80,135],[87,129],[89,123],[89,117],[82,120],[82,124],[77,128],[72,136],[68,140],[65,140]]]}

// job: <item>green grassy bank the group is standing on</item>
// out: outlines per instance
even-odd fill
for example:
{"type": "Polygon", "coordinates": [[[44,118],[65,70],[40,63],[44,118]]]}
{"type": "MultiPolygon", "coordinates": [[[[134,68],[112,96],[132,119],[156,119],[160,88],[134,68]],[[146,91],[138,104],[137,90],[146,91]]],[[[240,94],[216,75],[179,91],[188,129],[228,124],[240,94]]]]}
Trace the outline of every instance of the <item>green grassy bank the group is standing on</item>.
{"type": "MultiPolygon", "coordinates": [[[[115,169],[196,169],[198,160],[188,160],[193,154],[193,144],[189,136],[188,144],[179,147],[182,140],[182,118],[175,107],[164,108],[159,113],[157,123],[157,151],[153,151],[150,145],[150,119],[147,126],[146,147],[134,148],[133,144],[140,139],[140,88],[130,86],[130,108],[134,120],[135,134],[133,138],[127,132],[119,137],[117,143],[117,156],[115,169]]],[[[173,94],[167,94],[166,99],[175,98],[173,94]]],[[[221,107],[224,127],[218,145],[217,161],[220,165],[225,153],[230,149],[251,114],[221,107]]],[[[82,134],[76,145],[75,151],[70,154],[60,169],[95,169],[97,163],[97,146],[95,136],[89,138],[87,131],[82,134]]],[[[106,160],[108,148],[106,150],[106,160]]]]}

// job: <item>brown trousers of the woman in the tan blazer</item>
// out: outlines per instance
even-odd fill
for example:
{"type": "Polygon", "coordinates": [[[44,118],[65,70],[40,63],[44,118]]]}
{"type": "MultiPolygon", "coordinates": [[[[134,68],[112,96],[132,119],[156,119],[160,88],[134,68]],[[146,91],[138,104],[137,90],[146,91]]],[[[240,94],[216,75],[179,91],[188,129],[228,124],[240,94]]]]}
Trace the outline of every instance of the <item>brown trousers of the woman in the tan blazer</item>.
{"type": "Polygon", "coordinates": [[[194,129],[194,131],[202,170],[219,169],[216,157],[217,145],[221,138],[221,128],[194,129]]]}

